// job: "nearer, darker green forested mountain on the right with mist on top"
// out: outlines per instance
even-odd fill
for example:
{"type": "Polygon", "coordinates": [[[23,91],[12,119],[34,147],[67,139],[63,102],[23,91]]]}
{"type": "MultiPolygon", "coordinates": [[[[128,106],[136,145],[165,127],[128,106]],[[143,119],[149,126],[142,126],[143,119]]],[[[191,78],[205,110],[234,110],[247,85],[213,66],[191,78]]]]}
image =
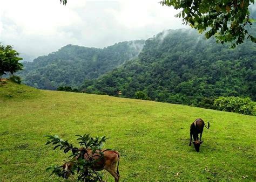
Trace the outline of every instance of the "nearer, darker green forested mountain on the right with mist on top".
{"type": "MultiPolygon", "coordinates": [[[[254,30],[252,30],[254,31],[254,30]]],[[[256,31],[254,31],[256,32],[256,31]]],[[[256,100],[256,44],[216,44],[192,30],[164,31],[146,40],[137,59],[96,80],[85,80],[87,93],[210,108],[218,96],[250,96],[256,100]]]]}

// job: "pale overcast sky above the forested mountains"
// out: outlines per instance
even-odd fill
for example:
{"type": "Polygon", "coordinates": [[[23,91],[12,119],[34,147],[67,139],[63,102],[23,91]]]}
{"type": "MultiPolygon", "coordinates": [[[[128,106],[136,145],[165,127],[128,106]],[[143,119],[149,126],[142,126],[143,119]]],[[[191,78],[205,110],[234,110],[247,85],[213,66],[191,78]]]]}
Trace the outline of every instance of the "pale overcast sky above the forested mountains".
{"type": "Polygon", "coordinates": [[[0,41],[29,61],[67,44],[103,48],[185,27],[159,1],[0,0],[0,41]]]}

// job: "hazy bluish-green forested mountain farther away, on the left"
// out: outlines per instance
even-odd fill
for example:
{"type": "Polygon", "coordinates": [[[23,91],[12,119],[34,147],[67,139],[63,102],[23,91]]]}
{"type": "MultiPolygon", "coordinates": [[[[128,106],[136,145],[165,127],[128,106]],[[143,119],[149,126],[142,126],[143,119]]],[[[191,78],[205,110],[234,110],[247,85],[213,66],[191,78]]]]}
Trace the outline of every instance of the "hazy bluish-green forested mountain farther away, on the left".
{"type": "Polygon", "coordinates": [[[66,45],[57,52],[24,62],[19,72],[26,85],[41,89],[80,86],[84,79],[95,79],[124,61],[137,57],[145,40],[125,41],[106,48],[66,45]]]}

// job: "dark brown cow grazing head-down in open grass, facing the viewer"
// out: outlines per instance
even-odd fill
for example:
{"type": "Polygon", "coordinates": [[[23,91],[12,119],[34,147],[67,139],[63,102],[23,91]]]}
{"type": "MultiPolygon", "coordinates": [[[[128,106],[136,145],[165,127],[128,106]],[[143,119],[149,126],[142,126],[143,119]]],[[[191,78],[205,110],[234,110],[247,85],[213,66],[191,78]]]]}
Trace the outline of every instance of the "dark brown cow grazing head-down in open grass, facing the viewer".
{"type": "MultiPolygon", "coordinates": [[[[196,149],[197,152],[199,152],[199,148],[200,148],[200,145],[201,143],[203,143],[203,141],[201,141],[202,139],[202,134],[203,134],[203,130],[204,130],[204,127],[206,127],[205,125],[205,122],[201,119],[201,118],[198,118],[196,121],[194,121],[191,125],[190,125],[190,146],[191,146],[191,143],[192,143],[192,135],[193,135],[193,138],[194,138],[194,149],[196,149]],[[200,141],[198,141],[198,134],[200,134],[200,141]]],[[[210,123],[208,122],[208,128],[210,128],[210,123]]]]}

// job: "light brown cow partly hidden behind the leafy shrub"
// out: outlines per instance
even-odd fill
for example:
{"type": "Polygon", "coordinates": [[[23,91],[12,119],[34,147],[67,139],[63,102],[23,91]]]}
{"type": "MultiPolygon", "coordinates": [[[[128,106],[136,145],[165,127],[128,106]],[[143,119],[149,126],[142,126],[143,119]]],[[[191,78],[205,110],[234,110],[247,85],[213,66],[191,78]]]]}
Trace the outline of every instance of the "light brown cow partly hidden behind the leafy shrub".
{"type": "MultiPolygon", "coordinates": [[[[78,149],[78,150],[85,150],[85,149],[78,149]]],[[[92,156],[92,150],[87,149],[87,152],[85,152],[84,155],[84,159],[85,160],[89,160],[89,157],[93,157],[94,159],[98,159],[99,156],[99,151],[97,151],[96,153],[93,154],[92,156]]],[[[119,166],[119,153],[117,151],[114,150],[101,150],[101,152],[103,152],[103,159],[99,160],[95,166],[93,166],[93,169],[95,171],[101,171],[101,170],[106,170],[108,171],[113,177],[114,177],[114,181],[119,181],[119,171],[118,171],[118,166],[119,166]],[[117,164],[118,163],[118,164],[117,164]],[[117,164],[117,171],[116,171],[116,164],[117,164]]],[[[75,160],[77,159],[77,157],[75,158],[75,160]]],[[[71,174],[71,168],[73,167],[75,163],[74,162],[66,162],[65,164],[63,164],[63,169],[65,171],[68,171],[65,174],[65,178],[68,178],[71,174]]]]}

